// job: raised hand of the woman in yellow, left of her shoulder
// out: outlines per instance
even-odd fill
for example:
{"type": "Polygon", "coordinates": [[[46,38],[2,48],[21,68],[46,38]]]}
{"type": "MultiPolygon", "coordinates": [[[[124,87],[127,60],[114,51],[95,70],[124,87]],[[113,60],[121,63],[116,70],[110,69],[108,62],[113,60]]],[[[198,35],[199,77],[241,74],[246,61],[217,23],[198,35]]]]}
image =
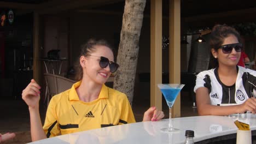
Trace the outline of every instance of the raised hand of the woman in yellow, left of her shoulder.
{"type": "Polygon", "coordinates": [[[40,88],[41,87],[37,82],[32,79],[27,87],[22,91],[22,99],[26,102],[29,109],[39,107],[40,88]]]}

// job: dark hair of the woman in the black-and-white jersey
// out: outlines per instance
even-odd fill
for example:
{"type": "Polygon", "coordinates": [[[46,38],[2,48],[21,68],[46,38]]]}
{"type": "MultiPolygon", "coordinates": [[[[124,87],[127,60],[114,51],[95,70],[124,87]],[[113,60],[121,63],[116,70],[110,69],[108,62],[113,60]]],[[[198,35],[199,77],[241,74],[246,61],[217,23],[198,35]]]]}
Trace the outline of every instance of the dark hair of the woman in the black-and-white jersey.
{"type": "MultiPolygon", "coordinates": [[[[223,44],[224,39],[229,37],[230,35],[234,35],[237,40],[240,42],[240,34],[236,31],[235,28],[227,26],[227,25],[215,25],[212,28],[212,32],[210,35],[210,48],[218,51],[219,47],[223,44]]],[[[210,69],[218,67],[218,60],[210,55],[210,69]]]]}

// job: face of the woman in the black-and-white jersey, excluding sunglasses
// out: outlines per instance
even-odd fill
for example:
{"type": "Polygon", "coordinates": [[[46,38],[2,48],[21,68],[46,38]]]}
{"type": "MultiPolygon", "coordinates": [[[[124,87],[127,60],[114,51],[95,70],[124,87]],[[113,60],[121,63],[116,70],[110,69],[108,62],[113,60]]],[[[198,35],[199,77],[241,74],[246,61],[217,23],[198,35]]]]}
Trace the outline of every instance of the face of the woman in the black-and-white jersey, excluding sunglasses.
{"type": "MultiPolygon", "coordinates": [[[[230,34],[224,39],[222,45],[235,43],[239,43],[238,39],[235,37],[235,35],[230,34]]],[[[240,59],[241,52],[236,52],[234,48],[230,53],[223,53],[222,49],[218,49],[217,51],[212,49],[212,55],[213,57],[218,58],[219,67],[222,65],[235,66],[240,59]]]]}

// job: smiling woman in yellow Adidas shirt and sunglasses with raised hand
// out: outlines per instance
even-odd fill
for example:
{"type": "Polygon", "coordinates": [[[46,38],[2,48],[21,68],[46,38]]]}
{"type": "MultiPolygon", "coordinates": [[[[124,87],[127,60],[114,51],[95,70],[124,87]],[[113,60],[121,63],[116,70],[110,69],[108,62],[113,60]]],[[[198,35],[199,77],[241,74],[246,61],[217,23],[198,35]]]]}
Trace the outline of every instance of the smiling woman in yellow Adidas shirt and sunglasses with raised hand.
{"type": "MultiPolygon", "coordinates": [[[[43,128],[38,109],[40,86],[31,80],[22,92],[30,111],[32,141],[135,122],[126,95],[104,85],[119,67],[109,44],[104,40],[89,40],[81,48],[78,82],[51,98],[43,128]]],[[[158,121],[162,117],[162,111],[150,107],[143,121],[158,121]]]]}

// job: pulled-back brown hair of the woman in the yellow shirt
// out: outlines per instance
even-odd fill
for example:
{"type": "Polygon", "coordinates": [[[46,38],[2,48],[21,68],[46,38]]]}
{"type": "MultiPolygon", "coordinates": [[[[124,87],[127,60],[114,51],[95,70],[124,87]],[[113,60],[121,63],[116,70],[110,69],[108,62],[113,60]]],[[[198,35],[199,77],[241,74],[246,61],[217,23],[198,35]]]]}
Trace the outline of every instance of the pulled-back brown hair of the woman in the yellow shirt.
{"type": "Polygon", "coordinates": [[[83,68],[80,65],[80,57],[90,55],[92,52],[95,52],[96,47],[95,46],[106,46],[109,47],[109,49],[113,52],[112,47],[108,44],[106,40],[100,39],[89,39],[87,43],[83,44],[80,47],[80,55],[78,57],[78,62],[75,65],[75,80],[80,81],[83,79],[83,68]]]}

